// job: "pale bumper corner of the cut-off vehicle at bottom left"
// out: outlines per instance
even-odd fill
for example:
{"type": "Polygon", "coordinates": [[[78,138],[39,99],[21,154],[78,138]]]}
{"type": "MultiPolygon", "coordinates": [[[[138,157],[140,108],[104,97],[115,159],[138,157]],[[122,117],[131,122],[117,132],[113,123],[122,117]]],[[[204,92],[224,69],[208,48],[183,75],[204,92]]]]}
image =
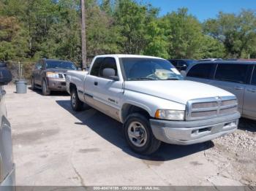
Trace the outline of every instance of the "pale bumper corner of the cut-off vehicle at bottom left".
{"type": "Polygon", "coordinates": [[[0,191],[15,190],[15,165],[12,167],[12,171],[8,174],[3,182],[0,183],[0,191]]]}

